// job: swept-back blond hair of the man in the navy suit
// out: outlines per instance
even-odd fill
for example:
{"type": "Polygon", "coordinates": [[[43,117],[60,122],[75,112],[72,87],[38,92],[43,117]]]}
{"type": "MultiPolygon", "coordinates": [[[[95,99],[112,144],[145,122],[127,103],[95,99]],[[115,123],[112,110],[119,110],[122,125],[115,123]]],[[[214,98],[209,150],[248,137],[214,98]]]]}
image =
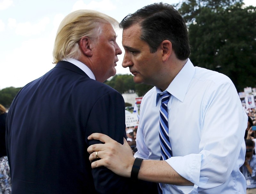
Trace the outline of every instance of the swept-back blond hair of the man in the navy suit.
{"type": "Polygon", "coordinates": [[[110,23],[118,26],[118,21],[104,13],[94,10],[77,10],[69,13],[60,23],[53,47],[53,63],[66,58],[78,59],[81,56],[79,40],[88,36],[93,41],[101,33],[100,24],[110,23]]]}

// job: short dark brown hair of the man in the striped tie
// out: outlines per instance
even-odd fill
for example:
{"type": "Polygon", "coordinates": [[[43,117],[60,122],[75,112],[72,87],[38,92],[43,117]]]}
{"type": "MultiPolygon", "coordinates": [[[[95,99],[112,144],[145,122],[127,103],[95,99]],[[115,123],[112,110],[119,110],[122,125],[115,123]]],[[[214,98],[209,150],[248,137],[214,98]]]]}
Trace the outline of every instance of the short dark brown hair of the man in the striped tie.
{"type": "Polygon", "coordinates": [[[185,60],[190,55],[188,29],[180,13],[170,4],[154,3],[128,14],[119,24],[127,29],[134,24],[141,26],[140,39],[147,42],[151,53],[164,41],[172,43],[176,57],[185,60]]]}

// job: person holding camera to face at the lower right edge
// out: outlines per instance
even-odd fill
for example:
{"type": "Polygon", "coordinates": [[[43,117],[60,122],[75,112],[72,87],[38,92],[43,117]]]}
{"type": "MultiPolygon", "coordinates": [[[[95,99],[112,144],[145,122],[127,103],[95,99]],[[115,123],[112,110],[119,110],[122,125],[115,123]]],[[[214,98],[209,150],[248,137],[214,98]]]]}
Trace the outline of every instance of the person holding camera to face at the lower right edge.
{"type": "Polygon", "coordinates": [[[240,168],[246,179],[246,194],[256,193],[256,156],[255,143],[251,139],[245,140],[246,153],[243,166],[240,168]]]}

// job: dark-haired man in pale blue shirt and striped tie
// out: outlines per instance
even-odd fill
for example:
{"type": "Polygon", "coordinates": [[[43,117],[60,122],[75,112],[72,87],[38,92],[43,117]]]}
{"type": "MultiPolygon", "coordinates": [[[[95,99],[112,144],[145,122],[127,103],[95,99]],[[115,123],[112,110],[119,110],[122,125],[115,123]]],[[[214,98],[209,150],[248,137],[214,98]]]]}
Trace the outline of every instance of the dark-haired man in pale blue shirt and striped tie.
{"type": "Polygon", "coordinates": [[[186,23],[170,4],[147,5],[119,26],[123,67],[134,82],[155,87],[141,101],[138,151],[94,133],[88,139],[104,144],[88,147],[92,168],[159,182],[159,193],[244,194],[248,116],[233,82],[192,64],[186,23]]]}

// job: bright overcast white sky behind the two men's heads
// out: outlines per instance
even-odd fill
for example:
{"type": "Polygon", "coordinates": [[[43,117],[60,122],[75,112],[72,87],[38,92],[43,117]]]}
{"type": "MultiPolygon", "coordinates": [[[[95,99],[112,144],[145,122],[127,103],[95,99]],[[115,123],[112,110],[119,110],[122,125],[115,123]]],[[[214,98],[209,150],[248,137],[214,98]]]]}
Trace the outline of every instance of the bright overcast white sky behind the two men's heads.
{"type": "MultiPolygon", "coordinates": [[[[0,0],[0,89],[23,87],[54,67],[52,49],[61,20],[78,9],[92,9],[108,14],[119,22],[154,0],[0,0]]],[[[179,0],[167,0],[175,4],[179,0]]],[[[256,6],[256,0],[244,0],[256,6]]],[[[130,74],[122,67],[124,49],[122,31],[117,43],[123,51],[116,66],[117,74],[130,74]]]]}

